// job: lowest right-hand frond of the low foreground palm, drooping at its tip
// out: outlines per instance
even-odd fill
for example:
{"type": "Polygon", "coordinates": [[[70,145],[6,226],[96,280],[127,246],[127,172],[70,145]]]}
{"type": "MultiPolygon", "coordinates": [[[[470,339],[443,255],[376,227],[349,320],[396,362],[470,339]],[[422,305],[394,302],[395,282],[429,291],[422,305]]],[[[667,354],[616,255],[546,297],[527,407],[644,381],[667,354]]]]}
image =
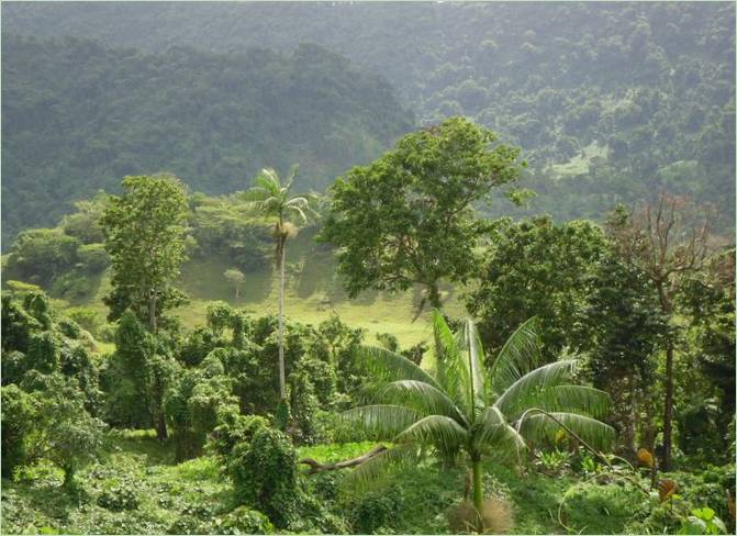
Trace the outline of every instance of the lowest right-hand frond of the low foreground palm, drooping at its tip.
{"type": "Polygon", "coordinates": [[[600,450],[611,447],[614,442],[614,428],[595,418],[576,413],[550,412],[549,415],[536,413],[525,416],[518,423],[520,433],[528,440],[552,440],[561,428],[559,424],[574,432],[584,442],[600,450]],[[558,422],[557,422],[558,421],[558,422]]]}

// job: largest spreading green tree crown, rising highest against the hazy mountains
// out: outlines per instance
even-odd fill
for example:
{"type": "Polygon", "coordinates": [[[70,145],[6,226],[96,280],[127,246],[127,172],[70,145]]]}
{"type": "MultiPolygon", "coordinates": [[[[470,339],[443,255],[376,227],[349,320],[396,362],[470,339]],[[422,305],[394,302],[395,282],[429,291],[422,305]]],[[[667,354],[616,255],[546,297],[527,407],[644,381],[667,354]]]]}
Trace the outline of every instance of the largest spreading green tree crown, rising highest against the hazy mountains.
{"type": "Polygon", "coordinates": [[[451,118],[335,181],[320,239],[338,247],[350,297],[421,284],[423,305],[440,308],[440,281],[468,279],[483,231],[473,205],[520,175],[520,149],[495,141],[491,131],[451,118]]]}

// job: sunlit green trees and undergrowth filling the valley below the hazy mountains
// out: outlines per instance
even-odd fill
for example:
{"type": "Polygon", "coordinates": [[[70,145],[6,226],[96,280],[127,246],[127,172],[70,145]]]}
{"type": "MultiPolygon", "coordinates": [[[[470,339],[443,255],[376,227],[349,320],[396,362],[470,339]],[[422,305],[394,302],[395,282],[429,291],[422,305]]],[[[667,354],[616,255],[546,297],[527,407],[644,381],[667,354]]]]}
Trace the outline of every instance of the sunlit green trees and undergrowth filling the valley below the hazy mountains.
{"type": "Polygon", "coordinates": [[[604,225],[487,220],[472,201],[525,194],[518,150],[494,138],[446,120],[326,198],[270,169],[220,198],[126,177],[121,196],[23,232],[3,259],[4,526],[734,527],[734,245],[667,192],[604,225]],[[300,227],[315,249],[297,247],[300,227]],[[422,319],[422,340],[347,324],[337,294],[298,290],[284,310],[294,264],[335,248],[349,295],[415,289],[405,322],[422,319]],[[227,300],[185,325],[181,270],[216,257],[227,300]],[[279,290],[255,298],[272,259],[279,290]],[[277,297],[278,314],[254,311],[277,297]],[[294,321],[299,301],[333,312],[294,321]]]}

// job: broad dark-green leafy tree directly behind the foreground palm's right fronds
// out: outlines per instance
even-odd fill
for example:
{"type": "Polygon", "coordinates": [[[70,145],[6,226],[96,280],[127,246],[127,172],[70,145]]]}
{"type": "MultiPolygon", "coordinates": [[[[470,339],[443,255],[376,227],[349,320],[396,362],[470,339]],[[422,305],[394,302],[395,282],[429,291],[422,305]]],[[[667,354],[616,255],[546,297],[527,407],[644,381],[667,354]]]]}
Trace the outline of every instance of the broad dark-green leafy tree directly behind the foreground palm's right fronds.
{"type": "Polygon", "coordinates": [[[591,222],[556,224],[549,216],[495,222],[489,233],[479,284],[466,302],[479,321],[491,355],[516,326],[539,319],[546,361],[573,346],[578,314],[583,306],[587,273],[605,249],[604,233],[591,222]]]}

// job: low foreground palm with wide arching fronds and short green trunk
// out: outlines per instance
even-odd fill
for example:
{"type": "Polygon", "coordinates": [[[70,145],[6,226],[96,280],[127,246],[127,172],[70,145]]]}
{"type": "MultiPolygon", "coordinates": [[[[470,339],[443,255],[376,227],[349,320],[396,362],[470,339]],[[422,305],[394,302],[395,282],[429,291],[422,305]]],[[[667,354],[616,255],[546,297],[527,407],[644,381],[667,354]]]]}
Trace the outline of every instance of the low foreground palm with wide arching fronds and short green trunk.
{"type": "Polygon", "coordinates": [[[574,359],[537,366],[536,319],[512,334],[488,370],[472,321],[454,336],[435,310],[434,332],[443,346],[434,375],[386,348],[361,349],[367,366],[387,382],[378,393],[382,403],[343,415],[395,445],[359,466],[357,478],[372,478],[428,449],[465,454],[480,524],[482,458],[518,457],[531,442],[554,437],[561,428],[592,450],[611,445],[614,429],[596,420],[607,410],[607,394],[572,383],[574,359]]]}

